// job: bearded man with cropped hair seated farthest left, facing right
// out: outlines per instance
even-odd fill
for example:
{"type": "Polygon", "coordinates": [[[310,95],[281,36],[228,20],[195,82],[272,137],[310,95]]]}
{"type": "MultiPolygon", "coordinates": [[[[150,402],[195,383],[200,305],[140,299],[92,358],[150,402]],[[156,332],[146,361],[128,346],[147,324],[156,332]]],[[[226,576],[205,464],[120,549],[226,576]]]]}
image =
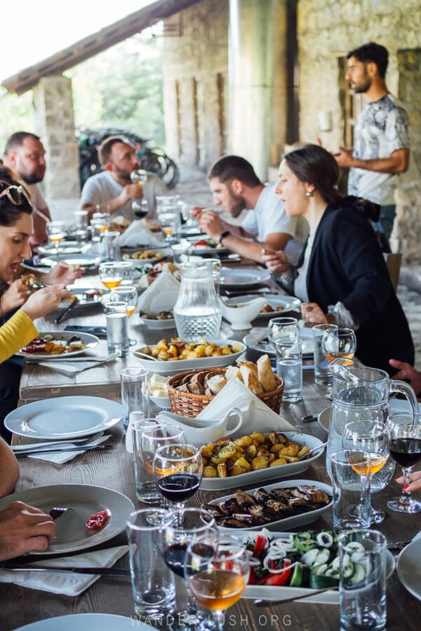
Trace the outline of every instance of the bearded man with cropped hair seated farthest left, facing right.
{"type": "Polygon", "coordinates": [[[39,136],[30,132],[16,132],[6,142],[4,149],[5,163],[15,169],[27,185],[34,208],[34,233],[30,245],[40,245],[47,240],[47,222],[51,219],[50,211],[39,189],[46,173],[46,150],[39,136]]]}

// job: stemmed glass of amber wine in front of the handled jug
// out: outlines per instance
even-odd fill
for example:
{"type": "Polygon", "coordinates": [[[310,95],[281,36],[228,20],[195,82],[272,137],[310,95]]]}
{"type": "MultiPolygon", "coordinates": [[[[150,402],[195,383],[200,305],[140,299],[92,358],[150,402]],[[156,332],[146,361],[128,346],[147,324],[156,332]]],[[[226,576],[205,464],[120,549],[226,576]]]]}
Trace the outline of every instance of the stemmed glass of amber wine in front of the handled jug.
{"type": "MultiPolygon", "coordinates": [[[[342,447],[344,449],[358,449],[370,456],[370,493],[381,491],[390,482],[390,477],[386,471],[386,475],[382,476],[383,484],[375,484],[375,474],[385,468],[389,459],[389,431],[385,423],[380,421],[352,421],[347,423],[342,436],[342,447]]],[[[392,461],[393,462],[393,461],[392,461]]],[[[363,472],[366,475],[366,471],[363,472]]],[[[392,474],[393,475],[393,474],[392,474]]],[[[377,476],[377,478],[380,476],[377,476]]],[[[358,509],[357,509],[358,510],[358,509]]],[[[372,524],[380,524],[385,519],[384,510],[370,509],[370,519],[372,524]]]]}

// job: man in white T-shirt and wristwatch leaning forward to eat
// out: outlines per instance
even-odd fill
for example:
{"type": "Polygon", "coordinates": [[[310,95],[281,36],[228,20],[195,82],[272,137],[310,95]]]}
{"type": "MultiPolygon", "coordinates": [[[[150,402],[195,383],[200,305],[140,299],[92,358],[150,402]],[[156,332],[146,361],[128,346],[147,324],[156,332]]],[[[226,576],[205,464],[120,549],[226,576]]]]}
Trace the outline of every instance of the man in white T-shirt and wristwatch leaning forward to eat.
{"type": "Polygon", "coordinates": [[[298,261],[307,222],[286,215],[275,184],[262,184],[253,166],[239,156],[220,158],[210,168],[208,179],[215,204],[229,215],[239,217],[242,210],[250,210],[241,226],[234,226],[216,212],[195,208],[192,215],[210,238],[259,263],[263,262],[262,245],[269,251],[286,250],[293,262],[298,261]]]}

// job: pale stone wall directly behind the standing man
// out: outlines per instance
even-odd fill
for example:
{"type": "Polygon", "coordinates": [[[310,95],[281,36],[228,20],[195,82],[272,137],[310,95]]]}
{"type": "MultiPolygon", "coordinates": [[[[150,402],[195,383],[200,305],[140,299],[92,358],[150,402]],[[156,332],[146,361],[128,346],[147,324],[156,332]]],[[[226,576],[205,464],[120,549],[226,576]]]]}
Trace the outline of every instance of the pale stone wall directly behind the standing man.
{"type": "Polygon", "coordinates": [[[421,1],[420,0],[300,0],[300,137],[335,150],[343,144],[340,104],[340,57],[368,41],[389,50],[387,86],[408,110],[413,169],[396,191],[397,219],[392,247],[406,262],[421,262],[421,1]],[[321,132],[318,111],[330,111],[332,130],[321,132]]]}

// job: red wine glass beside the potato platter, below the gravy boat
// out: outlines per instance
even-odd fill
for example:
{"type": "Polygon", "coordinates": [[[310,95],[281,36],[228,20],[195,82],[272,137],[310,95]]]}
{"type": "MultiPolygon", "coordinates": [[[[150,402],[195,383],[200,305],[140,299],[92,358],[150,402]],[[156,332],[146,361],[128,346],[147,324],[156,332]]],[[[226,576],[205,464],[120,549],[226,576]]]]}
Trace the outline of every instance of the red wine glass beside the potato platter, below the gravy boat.
{"type": "Polygon", "coordinates": [[[156,486],[175,508],[185,507],[186,501],[199,489],[202,475],[203,461],[198,447],[179,443],[156,449],[156,486]]]}

